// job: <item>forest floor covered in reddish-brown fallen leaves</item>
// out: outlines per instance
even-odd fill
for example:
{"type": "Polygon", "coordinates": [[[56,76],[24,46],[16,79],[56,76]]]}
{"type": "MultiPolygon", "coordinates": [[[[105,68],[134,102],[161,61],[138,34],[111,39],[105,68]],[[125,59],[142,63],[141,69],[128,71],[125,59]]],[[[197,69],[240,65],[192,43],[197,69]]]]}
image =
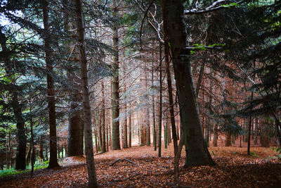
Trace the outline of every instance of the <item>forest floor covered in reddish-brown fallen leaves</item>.
{"type": "MultiPolygon", "coordinates": [[[[281,187],[281,161],[272,148],[210,147],[215,166],[182,168],[180,187],[281,187]]],[[[133,146],[95,156],[100,187],[174,187],[173,146],[157,157],[152,146],[133,146]],[[126,158],[129,161],[118,161],[126,158]]],[[[60,168],[1,177],[0,187],[86,187],[86,159],[65,158],[60,168]]]]}

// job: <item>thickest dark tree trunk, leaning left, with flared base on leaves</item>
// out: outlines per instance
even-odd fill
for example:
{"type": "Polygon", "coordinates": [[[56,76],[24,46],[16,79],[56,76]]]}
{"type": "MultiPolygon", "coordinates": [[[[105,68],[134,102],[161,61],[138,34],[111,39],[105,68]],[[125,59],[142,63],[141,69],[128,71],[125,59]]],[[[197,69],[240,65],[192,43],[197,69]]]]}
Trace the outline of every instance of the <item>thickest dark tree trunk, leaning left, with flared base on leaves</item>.
{"type": "Polygon", "coordinates": [[[183,20],[182,1],[162,0],[162,9],[163,19],[166,19],[164,27],[171,44],[185,150],[188,151],[186,165],[214,165],[204,142],[200,123],[190,56],[188,56],[190,51],[186,50],[188,34],[183,20]]]}

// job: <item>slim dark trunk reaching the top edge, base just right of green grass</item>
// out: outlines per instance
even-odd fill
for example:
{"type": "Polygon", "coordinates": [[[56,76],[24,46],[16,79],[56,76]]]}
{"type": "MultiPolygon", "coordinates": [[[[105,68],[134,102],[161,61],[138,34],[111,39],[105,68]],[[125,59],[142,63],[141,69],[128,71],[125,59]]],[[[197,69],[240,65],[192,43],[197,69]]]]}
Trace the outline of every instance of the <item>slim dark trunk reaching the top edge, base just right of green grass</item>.
{"type": "Polygon", "coordinates": [[[50,38],[50,26],[48,17],[48,1],[42,1],[43,4],[43,22],[44,30],[46,32],[45,42],[45,54],[46,54],[46,68],[47,68],[47,92],[48,92],[48,120],[50,125],[50,162],[48,168],[58,167],[57,158],[57,131],[55,124],[55,92],[53,86],[53,63],[51,63],[51,38],[50,38]]]}

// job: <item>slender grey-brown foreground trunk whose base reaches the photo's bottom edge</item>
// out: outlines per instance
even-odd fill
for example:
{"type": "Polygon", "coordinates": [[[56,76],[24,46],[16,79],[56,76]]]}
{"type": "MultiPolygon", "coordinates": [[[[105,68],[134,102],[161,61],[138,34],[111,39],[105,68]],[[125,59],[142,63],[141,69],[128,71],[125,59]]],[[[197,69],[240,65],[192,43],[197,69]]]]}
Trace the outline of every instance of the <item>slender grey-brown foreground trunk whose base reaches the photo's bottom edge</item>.
{"type": "Polygon", "coordinates": [[[83,117],[84,117],[84,137],[85,137],[85,153],[86,165],[88,170],[89,187],[98,187],[96,180],[96,166],[93,160],[93,134],[91,127],[91,105],[89,94],[88,70],[85,49],[85,28],[84,16],[82,13],[82,2],[76,0],[76,15],[77,15],[77,32],[78,32],[78,47],[81,63],[81,86],[83,94],[83,117]]]}

